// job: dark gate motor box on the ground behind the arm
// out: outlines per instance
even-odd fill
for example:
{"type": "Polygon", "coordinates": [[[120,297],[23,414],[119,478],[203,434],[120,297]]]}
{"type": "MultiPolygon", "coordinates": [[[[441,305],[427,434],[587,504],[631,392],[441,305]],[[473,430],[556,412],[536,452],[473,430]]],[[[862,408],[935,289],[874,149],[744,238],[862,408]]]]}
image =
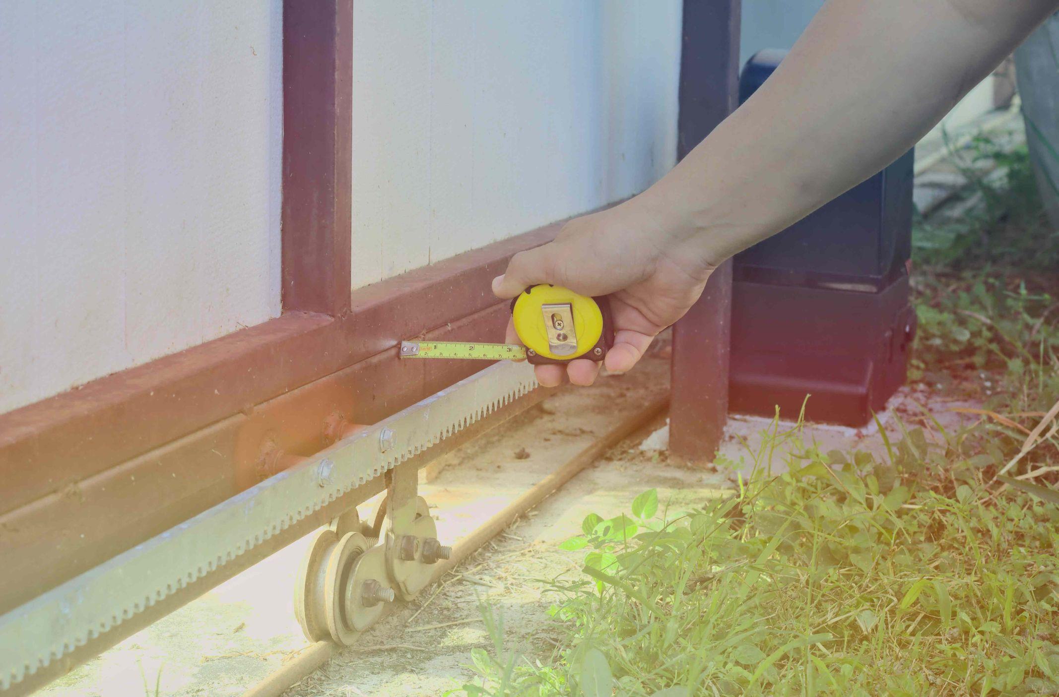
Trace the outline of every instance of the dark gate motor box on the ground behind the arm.
{"type": "MultiPolygon", "coordinates": [[[[770,49],[747,61],[740,104],[785,54],[770,49]]],[[[778,406],[794,418],[810,395],[807,419],[863,426],[904,382],[916,329],[912,171],[910,150],[735,256],[732,411],[772,416],[778,406]]]]}

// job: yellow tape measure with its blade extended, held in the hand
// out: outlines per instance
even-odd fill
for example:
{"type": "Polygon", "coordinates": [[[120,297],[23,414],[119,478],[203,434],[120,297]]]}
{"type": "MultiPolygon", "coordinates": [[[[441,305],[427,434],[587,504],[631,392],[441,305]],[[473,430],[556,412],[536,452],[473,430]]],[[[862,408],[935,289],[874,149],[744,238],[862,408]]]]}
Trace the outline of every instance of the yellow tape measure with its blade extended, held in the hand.
{"type": "Polygon", "coordinates": [[[402,341],[401,358],[522,360],[564,363],[575,358],[600,361],[613,345],[606,298],[589,298],[568,288],[538,285],[511,303],[511,321],[520,346],[466,341],[402,341]]]}

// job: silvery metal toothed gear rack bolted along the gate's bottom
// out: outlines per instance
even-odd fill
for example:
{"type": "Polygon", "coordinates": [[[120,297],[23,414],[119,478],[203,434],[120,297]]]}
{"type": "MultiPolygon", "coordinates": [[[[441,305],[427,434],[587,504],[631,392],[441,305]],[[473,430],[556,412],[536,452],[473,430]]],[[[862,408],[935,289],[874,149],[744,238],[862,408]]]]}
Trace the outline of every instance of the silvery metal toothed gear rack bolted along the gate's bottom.
{"type": "Polygon", "coordinates": [[[40,687],[381,492],[384,472],[546,396],[536,387],[525,363],[491,365],[0,615],[0,691],[40,687]]]}

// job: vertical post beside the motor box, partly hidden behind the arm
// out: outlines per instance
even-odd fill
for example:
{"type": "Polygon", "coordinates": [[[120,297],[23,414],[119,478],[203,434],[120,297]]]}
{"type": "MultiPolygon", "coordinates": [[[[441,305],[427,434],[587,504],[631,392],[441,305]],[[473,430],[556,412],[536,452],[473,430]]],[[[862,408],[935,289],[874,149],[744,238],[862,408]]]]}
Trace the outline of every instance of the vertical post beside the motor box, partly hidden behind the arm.
{"type": "MultiPolygon", "coordinates": [[[[684,0],[677,157],[683,159],[736,107],[741,0],[684,0]]],[[[706,283],[674,326],[669,449],[693,463],[713,459],[728,419],[732,262],[706,283]]]]}

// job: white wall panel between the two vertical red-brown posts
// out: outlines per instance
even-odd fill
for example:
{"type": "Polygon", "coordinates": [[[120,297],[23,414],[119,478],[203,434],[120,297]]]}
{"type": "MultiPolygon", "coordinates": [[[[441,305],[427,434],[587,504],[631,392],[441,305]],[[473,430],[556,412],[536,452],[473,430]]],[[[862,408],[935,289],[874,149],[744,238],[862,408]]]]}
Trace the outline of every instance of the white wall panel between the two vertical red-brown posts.
{"type": "Polygon", "coordinates": [[[665,174],[680,28],[680,0],[358,0],[354,287],[665,174]]]}

